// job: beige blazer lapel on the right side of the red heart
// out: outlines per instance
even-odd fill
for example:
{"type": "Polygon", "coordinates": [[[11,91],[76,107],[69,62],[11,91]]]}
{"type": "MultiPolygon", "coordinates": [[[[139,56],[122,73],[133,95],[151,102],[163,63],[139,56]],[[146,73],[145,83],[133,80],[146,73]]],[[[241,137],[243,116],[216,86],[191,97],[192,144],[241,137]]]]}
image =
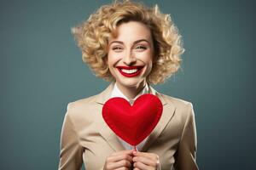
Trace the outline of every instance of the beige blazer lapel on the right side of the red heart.
{"type": "Polygon", "coordinates": [[[143,152],[147,151],[149,146],[154,143],[154,140],[159,137],[160,133],[164,130],[167,123],[171,121],[172,116],[174,115],[174,111],[175,111],[175,106],[172,104],[167,104],[163,95],[159,94],[157,91],[155,91],[154,88],[150,87],[150,94],[154,94],[157,97],[159,97],[159,99],[163,105],[163,112],[162,112],[160,121],[158,122],[156,127],[154,127],[154,130],[152,131],[152,133],[150,133],[146,143],[143,145],[143,148],[141,150],[143,152]]]}

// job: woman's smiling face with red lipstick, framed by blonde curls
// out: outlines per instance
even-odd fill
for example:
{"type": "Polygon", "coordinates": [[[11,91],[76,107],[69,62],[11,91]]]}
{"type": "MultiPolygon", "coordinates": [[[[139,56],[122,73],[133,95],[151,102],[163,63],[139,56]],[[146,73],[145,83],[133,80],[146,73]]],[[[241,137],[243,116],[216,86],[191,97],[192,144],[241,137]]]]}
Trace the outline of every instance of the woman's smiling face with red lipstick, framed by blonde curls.
{"type": "Polygon", "coordinates": [[[119,88],[139,88],[152,69],[154,44],[149,28],[129,21],[117,27],[108,43],[108,67],[119,88]]]}

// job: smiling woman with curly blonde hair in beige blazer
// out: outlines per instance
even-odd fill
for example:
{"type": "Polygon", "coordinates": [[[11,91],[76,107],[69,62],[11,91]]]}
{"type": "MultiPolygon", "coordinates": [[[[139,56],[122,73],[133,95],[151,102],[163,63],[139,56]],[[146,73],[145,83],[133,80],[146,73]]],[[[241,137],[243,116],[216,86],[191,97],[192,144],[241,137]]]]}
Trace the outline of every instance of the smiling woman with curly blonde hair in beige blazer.
{"type": "Polygon", "coordinates": [[[97,77],[112,82],[101,94],[67,106],[59,169],[198,169],[192,105],[160,94],[150,86],[164,82],[180,66],[180,35],[157,6],[115,2],[102,6],[89,20],[73,28],[83,60],[97,77]],[[132,103],[154,94],[163,105],[160,122],[137,145],[117,137],[102,119],[102,105],[112,97],[132,103]]]}

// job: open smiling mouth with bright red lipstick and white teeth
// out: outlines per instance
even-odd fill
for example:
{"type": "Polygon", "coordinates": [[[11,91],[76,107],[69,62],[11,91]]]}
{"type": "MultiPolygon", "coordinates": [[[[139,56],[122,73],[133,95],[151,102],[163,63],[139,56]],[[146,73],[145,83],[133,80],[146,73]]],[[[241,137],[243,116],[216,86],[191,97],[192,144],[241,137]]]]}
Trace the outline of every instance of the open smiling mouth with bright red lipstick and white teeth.
{"type": "Polygon", "coordinates": [[[144,67],[143,65],[137,65],[137,66],[117,66],[116,68],[124,77],[137,77],[141,73],[143,67],[144,67]]]}

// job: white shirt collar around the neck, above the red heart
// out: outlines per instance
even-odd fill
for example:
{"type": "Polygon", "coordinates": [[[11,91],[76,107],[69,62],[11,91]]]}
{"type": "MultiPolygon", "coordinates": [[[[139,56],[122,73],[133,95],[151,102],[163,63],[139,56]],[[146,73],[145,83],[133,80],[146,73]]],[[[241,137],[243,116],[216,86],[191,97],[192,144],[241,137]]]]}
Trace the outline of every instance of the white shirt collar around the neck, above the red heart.
{"type": "MultiPolygon", "coordinates": [[[[143,90],[140,91],[140,93],[137,94],[137,96],[134,98],[134,99],[128,99],[125,94],[123,94],[120,89],[118,88],[116,82],[114,83],[114,86],[113,86],[113,90],[111,92],[111,98],[114,98],[114,97],[120,97],[120,98],[124,98],[126,99],[127,101],[135,101],[138,97],[140,97],[141,95],[143,94],[148,94],[149,90],[148,90],[148,83],[146,83],[146,86],[143,88],[143,90]]],[[[133,102],[132,102],[133,103],[133,102]]]]}

